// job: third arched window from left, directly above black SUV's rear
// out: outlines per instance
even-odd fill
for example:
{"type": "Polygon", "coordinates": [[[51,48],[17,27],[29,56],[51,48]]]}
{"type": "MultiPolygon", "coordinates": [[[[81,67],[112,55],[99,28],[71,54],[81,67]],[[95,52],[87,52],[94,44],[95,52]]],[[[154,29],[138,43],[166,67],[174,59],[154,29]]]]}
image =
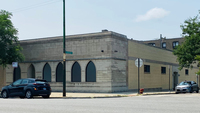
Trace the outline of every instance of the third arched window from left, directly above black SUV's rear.
{"type": "Polygon", "coordinates": [[[43,79],[47,82],[51,82],[51,67],[48,63],[46,63],[43,68],[43,79]]]}

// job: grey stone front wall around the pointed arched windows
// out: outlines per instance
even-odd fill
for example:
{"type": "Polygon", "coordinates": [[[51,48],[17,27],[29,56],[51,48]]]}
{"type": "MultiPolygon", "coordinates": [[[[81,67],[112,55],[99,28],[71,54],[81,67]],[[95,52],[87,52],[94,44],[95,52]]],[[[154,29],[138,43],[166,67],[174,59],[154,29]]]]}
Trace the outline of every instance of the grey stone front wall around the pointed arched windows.
{"type": "MultiPolygon", "coordinates": [[[[43,79],[46,63],[51,68],[51,87],[62,91],[62,82],[56,82],[56,68],[62,62],[62,37],[21,41],[24,63],[19,63],[21,78],[26,78],[28,67],[35,67],[35,78],[43,79]]],[[[100,32],[66,37],[66,89],[79,92],[127,91],[127,38],[114,32],[100,32]],[[86,82],[86,66],[92,61],[96,67],[96,82],[86,82]],[[81,82],[71,82],[71,69],[77,62],[81,67],[81,82]]],[[[7,84],[13,82],[13,68],[6,70],[7,84]]]]}

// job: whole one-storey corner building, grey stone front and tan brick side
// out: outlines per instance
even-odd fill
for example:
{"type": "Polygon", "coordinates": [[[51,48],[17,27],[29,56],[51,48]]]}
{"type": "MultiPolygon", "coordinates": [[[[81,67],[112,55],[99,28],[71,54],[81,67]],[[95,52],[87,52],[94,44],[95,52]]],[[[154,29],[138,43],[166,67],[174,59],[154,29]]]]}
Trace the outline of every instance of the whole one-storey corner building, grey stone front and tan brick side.
{"type": "MultiPolygon", "coordinates": [[[[63,37],[20,41],[25,61],[6,68],[6,84],[19,78],[47,80],[52,91],[62,91],[63,37]]],[[[183,80],[196,81],[198,68],[178,70],[176,56],[162,49],[128,39],[112,31],[66,36],[66,90],[69,92],[122,92],[173,89],[183,80]]]]}

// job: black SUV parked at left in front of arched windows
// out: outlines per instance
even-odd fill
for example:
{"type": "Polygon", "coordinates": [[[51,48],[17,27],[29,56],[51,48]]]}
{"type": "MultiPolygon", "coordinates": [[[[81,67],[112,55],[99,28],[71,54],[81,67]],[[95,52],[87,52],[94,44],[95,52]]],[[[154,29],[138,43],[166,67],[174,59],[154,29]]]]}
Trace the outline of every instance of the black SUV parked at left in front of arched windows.
{"type": "Polygon", "coordinates": [[[16,80],[10,85],[3,87],[1,92],[3,98],[15,96],[20,98],[32,98],[33,96],[49,98],[50,95],[50,84],[46,80],[34,78],[16,80]]]}

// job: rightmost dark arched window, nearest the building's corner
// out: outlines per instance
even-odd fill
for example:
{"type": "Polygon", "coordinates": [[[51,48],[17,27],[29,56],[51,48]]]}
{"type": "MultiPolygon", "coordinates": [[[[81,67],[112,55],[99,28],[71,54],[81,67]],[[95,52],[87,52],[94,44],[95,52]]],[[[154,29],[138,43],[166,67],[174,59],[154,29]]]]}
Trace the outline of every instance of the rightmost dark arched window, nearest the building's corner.
{"type": "Polygon", "coordinates": [[[96,68],[92,61],[86,67],[86,82],[96,82],[96,68]]]}

